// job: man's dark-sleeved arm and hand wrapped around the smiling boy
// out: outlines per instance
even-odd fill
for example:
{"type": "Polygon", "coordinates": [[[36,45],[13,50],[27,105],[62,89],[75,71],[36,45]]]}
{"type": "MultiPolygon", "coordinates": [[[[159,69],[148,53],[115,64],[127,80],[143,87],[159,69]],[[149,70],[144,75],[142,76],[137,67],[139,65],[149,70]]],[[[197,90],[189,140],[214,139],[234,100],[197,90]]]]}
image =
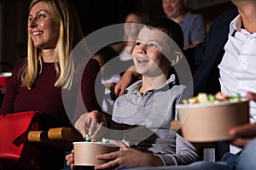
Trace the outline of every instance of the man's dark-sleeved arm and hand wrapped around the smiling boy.
{"type": "MultiPolygon", "coordinates": [[[[189,62],[190,68],[195,67],[193,75],[195,96],[200,92],[216,94],[220,91],[218,64],[224,55],[224,44],[228,40],[230,22],[235,19],[237,14],[237,8],[220,14],[207,32],[204,42],[194,48],[184,50],[186,59],[188,61],[192,59],[189,62]]],[[[114,87],[115,94],[117,96],[125,94],[125,88],[137,77],[140,75],[136,71],[132,69],[125,71],[123,77],[114,87]]]]}

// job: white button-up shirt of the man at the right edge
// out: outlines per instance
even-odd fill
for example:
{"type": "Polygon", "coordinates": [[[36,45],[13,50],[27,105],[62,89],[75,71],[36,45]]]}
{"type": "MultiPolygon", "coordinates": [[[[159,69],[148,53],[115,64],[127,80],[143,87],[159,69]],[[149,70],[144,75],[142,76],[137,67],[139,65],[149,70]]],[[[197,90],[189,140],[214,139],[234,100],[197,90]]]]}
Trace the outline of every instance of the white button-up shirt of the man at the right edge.
{"type": "MultiPolygon", "coordinates": [[[[218,65],[219,82],[223,94],[246,96],[247,92],[256,93],[256,33],[241,28],[241,16],[230,23],[225,54],[218,65]]],[[[256,122],[256,103],[250,101],[250,122],[256,122]]],[[[238,151],[238,150],[237,150],[238,151]]],[[[231,153],[236,151],[231,147],[231,153]]]]}

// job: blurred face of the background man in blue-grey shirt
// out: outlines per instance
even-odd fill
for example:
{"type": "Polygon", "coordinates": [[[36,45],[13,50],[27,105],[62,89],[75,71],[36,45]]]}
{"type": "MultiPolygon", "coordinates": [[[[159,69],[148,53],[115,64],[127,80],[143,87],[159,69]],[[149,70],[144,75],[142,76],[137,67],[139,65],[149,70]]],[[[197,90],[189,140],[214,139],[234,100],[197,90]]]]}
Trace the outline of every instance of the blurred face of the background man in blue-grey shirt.
{"type": "Polygon", "coordinates": [[[168,18],[175,19],[183,14],[186,1],[184,0],[162,0],[163,10],[168,18]]]}

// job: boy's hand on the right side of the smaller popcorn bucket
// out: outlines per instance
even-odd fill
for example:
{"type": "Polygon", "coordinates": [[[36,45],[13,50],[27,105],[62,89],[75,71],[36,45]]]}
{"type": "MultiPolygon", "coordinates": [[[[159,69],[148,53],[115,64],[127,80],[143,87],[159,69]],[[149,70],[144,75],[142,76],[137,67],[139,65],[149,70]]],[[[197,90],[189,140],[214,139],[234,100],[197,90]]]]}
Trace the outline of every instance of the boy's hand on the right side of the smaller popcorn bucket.
{"type": "Polygon", "coordinates": [[[164,165],[159,156],[131,149],[118,141],[116,141],[115,144],[118,145],[121,150],[96,156],[98,159],[107,160],[108,162],[95,166],[95,169],[119,169],[122,167],[153,167],[164,165]]]}

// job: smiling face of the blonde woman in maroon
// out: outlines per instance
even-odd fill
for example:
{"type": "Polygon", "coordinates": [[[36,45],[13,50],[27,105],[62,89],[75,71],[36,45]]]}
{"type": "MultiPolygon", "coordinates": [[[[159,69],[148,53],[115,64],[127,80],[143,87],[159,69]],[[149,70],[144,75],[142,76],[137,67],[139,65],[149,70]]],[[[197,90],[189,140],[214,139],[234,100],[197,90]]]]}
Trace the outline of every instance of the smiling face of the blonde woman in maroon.
{"type": "Polygon", "coordinates": [[[36,3],[28,16],[28,34],[34,46],[41,49],[56,47],[60,24],[54,14],[49,11],[47,3],[36,3]]]}

